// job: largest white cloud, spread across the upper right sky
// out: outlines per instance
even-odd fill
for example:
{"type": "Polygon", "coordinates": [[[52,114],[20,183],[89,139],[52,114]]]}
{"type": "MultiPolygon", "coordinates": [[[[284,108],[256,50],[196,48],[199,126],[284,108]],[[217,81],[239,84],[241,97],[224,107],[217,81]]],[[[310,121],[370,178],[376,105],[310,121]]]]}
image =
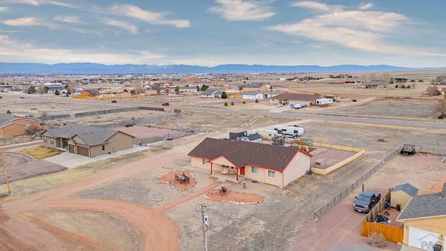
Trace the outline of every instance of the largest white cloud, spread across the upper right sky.
{"type": "MultiPolygon", "coordinates": [[[[369,4],[367,4],[370,7],[369,4]]],[[[294,24],[279,24],[266,29],[303,36],[321,43],[331,43],[365,52],[390,54],[430,54],[404,45],[392,45],[389,38],[410,19],[398,13],[344,10],[316,1],[301,1],[294,6],[324,11],[294,24]]]]}

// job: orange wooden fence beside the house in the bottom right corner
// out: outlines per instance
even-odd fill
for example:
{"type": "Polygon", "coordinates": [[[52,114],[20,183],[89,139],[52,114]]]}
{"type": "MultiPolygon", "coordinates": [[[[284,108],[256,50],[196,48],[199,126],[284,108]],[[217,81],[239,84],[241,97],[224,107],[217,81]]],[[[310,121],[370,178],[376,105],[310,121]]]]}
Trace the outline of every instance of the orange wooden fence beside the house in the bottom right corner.
{"type": "Polygon", "coordinates": [[[404,230],[399,227],[394,227],[392,225],[385,225],[374,222],[362,221],[361,235],[369,236],[372,232],[381,233],[385,236],[386,241],[392,243],[403,243],[403,233],[404,230]]]}

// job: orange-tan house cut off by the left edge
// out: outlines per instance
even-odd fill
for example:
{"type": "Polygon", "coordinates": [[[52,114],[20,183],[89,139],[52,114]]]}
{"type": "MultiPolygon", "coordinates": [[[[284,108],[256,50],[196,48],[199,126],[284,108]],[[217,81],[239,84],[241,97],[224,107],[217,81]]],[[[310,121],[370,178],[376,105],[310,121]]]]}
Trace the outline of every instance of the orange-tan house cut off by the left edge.
{"type": "Polygon", "coordinates": [[[0,137],[12,137],[17,135],[26,135],[27,130],[40,130],[38,119],[22,117],[11,114],[1,114],[0,116],[0,137]]]}

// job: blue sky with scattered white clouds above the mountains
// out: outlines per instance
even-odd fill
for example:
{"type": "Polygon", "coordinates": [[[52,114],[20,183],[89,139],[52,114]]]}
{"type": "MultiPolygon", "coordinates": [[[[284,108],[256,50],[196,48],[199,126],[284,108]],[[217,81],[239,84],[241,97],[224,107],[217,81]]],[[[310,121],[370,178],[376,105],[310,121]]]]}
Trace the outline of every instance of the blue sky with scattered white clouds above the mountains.
{"type": "Polygon", "coordinates": [[[446,1],[0,0],[0,62],[446,66],[446,1]]]}

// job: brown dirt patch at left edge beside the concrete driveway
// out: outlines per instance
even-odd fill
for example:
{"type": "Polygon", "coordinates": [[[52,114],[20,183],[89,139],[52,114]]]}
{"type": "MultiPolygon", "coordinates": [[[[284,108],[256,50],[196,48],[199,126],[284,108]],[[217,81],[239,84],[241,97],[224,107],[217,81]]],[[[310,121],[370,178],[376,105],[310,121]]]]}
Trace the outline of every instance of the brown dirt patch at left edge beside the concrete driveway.
{"type": "MultiPolygon", "coordinates": [[[[19,181],[24,178],[31,178],[43,174],[61,172],[67,167],[46,161],[33,160],[29,155],[23,153],[4,152],[3,159],[8,167],[9,182],[19,181]]],[[[0,173],[0,184],[5,184],[6,179],[3,172],[0,173]]]]}

